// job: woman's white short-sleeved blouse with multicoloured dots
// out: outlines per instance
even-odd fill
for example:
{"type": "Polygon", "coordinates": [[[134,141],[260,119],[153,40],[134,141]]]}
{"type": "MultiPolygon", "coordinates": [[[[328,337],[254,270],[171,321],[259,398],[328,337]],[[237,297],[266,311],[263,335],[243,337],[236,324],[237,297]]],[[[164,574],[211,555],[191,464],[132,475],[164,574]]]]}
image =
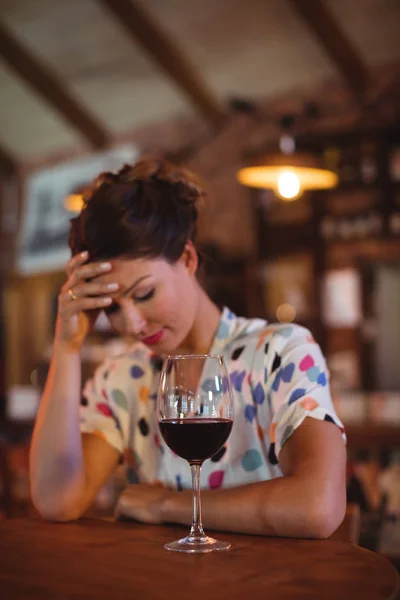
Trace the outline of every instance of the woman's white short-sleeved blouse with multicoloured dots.
{"type": "MultiPolygon", "coordinates": [[[[230,381],[235,423],[226,444],[205,461],[203,486],[218,489],[278,476],[280,449],[305,416],[342,427],[325,362],[307,330],[238,319],[225,309],[210,352],[224,354],[229,377],[220,382],[205,377],[201,388],[207,394],[226,391],[230,381]]],[[[122,448],[130,483],[160,481],[182,490],[191,488],[190,469],[166,446],[157,424],[162,364],[138,345],[123,360],[104,366],[85,388],[81,426],[122,448]]]]}

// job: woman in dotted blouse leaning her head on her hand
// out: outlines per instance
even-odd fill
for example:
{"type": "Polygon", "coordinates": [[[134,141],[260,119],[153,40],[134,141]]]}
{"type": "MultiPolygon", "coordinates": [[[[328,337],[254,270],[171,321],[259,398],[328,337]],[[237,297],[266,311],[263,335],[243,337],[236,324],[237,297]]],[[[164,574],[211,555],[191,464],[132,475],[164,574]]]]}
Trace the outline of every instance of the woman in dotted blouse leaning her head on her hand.
{"type": "Polygon", "coordinates": [[[202,472],[204,526],[327,537],[345,512],[346,452],[325,361],[299,326],[220,309],[196,279],[195,176],[145,159],[95,184],[73,220],[51,367],[31,446],[31,490],[48,519],[78,518],[120,461],[117,514],[190,524],[187,464],[160,439],[160,357],[222,353],[235,397],[232,434],[202,472]],[[135,342],[84,388],[83,341],[99,311],[135,342]],[[162,485],[159,485],[161,482],[162,485]]]}

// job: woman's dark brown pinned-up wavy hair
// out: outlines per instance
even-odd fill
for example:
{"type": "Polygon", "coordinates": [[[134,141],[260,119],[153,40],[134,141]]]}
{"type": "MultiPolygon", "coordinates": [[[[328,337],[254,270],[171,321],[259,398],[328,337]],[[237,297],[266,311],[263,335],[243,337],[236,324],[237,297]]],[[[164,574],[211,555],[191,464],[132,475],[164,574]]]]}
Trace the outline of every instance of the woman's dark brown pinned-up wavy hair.
{"type": "Polygon", "coordinates": [[[195,242],[204,196],[191,171],[160,158],[102,173],[71,220],[72,254],[87,250],[90,260],[162,256],[176,262],[186,242],[195,242]]]}

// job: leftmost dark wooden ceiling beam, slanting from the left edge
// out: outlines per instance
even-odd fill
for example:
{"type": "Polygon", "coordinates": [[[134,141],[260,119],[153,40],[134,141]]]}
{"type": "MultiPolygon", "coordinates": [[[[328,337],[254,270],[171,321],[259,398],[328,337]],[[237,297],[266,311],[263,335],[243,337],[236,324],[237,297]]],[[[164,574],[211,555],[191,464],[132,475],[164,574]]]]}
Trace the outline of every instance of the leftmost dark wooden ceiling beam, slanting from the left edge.
{"type": "Polygon", "coordinates": [[[0,23],[0,56],[94,148],[107,145],[103,127],[75,100],[64,84],[0,23]]]}

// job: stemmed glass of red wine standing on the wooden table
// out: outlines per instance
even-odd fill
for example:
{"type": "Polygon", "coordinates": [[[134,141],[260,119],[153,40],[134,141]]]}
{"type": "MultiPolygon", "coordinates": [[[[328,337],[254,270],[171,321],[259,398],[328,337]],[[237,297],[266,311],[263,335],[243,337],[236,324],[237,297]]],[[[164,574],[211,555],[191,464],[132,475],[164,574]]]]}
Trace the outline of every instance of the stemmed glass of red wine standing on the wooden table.
{"type": "Polygon", "coordinates": [[[233,395],[223,356],[167,356],[158,391],[158,420],[171,450],[188,461],[192,472],[193,521],[188,536],[167,550],[212,552],[230,544],[205,535],[201,523],[200,470],[225,444],[233,425],[233,395]]]}

